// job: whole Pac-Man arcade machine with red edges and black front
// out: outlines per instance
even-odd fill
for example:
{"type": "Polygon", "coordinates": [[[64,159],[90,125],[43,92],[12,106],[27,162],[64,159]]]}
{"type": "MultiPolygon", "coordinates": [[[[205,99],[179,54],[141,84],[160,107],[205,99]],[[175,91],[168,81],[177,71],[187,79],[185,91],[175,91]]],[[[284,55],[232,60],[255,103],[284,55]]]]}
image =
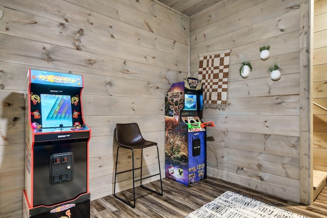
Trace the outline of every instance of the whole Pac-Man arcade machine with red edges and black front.
{"type": "Polygon", "coordinates": [[[29,69],[23,217],[90,217],[83,77],[29,69]]]}

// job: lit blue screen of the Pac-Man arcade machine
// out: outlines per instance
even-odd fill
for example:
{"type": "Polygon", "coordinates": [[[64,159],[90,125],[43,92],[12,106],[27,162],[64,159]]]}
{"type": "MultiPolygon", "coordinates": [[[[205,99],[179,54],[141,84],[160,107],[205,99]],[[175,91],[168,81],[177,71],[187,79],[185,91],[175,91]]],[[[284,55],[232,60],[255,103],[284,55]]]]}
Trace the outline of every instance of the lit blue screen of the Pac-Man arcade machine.
{"type": "Polygon", "coordinates": [[[42,111],[42,128],[63,125],[72,127],[72,104],[70,95],[40,94],[42,111]]]}

